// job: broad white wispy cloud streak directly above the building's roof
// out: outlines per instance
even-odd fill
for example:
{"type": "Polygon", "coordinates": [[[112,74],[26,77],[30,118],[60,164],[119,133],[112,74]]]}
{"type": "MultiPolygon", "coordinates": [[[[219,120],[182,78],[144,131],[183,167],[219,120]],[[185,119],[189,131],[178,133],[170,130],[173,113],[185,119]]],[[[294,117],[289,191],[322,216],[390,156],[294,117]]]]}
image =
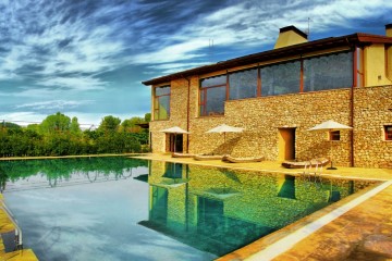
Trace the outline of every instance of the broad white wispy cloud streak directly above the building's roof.
{"type": "MultiPolygon", "coordinates": [[[[391,1],[237,1],[198,15],[170,35],[168,46],[135,57],[139,63],[173,63],[208,57],[209,39],[219,50],[226,47],[250,48],[273,44],[280,27],[296,25],[306,30],[311,18],[313,33],[333,30],[336,26],[355,28],[352,20],[382,16],[392,9],[391,1]],[[380,8],[383,7],[383,8],[380,8]]],[[[233,55],[235,57],[235,55],[233,55]]]]}

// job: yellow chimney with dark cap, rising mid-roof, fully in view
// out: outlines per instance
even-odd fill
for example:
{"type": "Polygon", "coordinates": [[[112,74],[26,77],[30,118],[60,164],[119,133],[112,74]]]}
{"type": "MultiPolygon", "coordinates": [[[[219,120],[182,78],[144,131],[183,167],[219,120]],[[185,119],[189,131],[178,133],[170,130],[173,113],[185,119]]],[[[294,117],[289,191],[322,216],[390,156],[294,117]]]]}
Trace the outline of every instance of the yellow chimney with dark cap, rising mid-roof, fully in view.
{"type": "Polygon", "coordinates": [[[279,37],[273,49],[294,46],[307,41],[307,35],[304,32],[294,25],[290,25],[279,29],[279,37]]]}

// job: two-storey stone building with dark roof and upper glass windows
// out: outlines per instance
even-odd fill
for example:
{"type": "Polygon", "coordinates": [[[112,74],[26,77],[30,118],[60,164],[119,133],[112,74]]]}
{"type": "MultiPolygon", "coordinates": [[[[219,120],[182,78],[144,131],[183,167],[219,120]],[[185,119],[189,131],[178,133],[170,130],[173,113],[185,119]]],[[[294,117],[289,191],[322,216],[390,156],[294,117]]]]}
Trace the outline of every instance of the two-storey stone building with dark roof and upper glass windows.
{"type": "Polygon", "coordinates": [[[308,41],[294,26],[274,49],[154,78],[152,152],[329,157],[338,165],[392,167],[392,24],[308,41]],[[352,130],[309,132],[333,120],[352,130]],[[241,134],[206,133],[220,124],[241,134]],[[180,126],[189,134],[160,130],[180,126]],[[225,140],[225,142],[223,142],[225,140]]]}

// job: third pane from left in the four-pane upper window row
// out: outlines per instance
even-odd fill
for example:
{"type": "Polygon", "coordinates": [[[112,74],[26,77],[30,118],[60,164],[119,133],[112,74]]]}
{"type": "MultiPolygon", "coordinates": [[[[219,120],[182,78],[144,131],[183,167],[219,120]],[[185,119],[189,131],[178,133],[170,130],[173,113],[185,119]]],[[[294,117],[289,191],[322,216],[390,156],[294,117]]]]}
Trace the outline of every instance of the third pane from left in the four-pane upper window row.
{"type": "Polygon", "coordinates": [[[301,62],[287,62],[261,69],[261,96],[299,92],[301,62]]]}

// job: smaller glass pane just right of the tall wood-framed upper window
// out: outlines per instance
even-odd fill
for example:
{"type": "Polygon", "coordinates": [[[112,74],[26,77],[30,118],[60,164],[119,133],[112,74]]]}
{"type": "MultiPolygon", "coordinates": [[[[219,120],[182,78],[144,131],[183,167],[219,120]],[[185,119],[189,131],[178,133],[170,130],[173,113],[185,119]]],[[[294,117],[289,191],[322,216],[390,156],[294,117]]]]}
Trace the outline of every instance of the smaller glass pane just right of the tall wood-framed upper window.
{"type": "Polygon", "coordinates": [[[230,100],[257,97],[257,69],[230,74],[229,86],[230,100]]]}

